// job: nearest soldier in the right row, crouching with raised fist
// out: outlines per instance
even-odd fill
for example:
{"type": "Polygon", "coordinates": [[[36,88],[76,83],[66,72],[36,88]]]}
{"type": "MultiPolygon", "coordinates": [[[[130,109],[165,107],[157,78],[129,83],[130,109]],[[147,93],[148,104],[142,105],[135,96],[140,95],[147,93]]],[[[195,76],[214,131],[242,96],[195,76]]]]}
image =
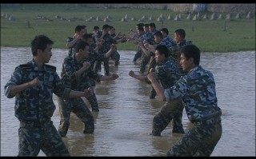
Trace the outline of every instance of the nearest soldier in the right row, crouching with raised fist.
{"type": "Polygon", "coordinates": [[[192,44],[181,50],[182,69],[188,73],[168,89],[162,88],[155,73],[148,74],[162,101],[182,99],[187,117],[193,123],[190,129],[167,156],[207,156],[213,152],[222,137],[222,110],[218,107],[214,75],[199,66],[200,50],[192,44]]]}

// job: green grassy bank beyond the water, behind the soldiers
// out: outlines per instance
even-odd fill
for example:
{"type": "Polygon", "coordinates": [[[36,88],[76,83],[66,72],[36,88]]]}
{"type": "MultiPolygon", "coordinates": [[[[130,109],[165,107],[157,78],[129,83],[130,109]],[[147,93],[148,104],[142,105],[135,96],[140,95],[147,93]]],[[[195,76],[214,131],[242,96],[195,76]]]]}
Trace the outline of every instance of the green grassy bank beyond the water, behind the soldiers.
{"type": "MultiPolygon", "coordinates": [[[[135,30],[138,19],[145,15],[146,18],[153,16],[154,20],[146,19],[144,23],[154,22],[157,29],[166,27],[171,37],[174,37],[174,30],[183,28],[186,30],[186,39],[191,40],[203,52],[255,50],[255,18],[246,19],[246,15],[236,19],[236,14],[231,14],[230,20],[225,20],[227,13],[223,13],[224,18],[210,20],[213,13],[204,13],[208,15],[208,19],[193,21],[186,19],[188,14],[182,14],[181,21],[174,21],[167,18],[169,15],[175,18],[178,13],[170,10],[99,9],[68,4],[1,6],[1,14],[4,13],[13,16],[14,20],[1,18],[1,46],[30,46],[30,41],[35,35],[46,34],[54,40],[54,48],[66,48],[66,38],[74,35],[77,25],[86,25],[90,33],[94,26],[102,28],[104,24],[109,24],[114,26],[117,32],[126,34],[130,29],[135,30]],[[121,19],[125,18],[126,14],[127,22],[122,22],[121,19]],[[164,17],[163,22],[156,20],[160,14],[164,17]],[[57,15],[67,20],[55,18],[57,15]],[[110,16],[110,22],[103,21],[107,15],[110,16]],[[40,16],[45,19],[38,18],[40,16]],[[90,17],[98,17],[100,20],[86,21],[90,17]],[[131,17],[135,20],[131,21],[131,17]]],[[[136,48],[137,46],[129,42],[118,44],[118,50],[136,48]]]]}

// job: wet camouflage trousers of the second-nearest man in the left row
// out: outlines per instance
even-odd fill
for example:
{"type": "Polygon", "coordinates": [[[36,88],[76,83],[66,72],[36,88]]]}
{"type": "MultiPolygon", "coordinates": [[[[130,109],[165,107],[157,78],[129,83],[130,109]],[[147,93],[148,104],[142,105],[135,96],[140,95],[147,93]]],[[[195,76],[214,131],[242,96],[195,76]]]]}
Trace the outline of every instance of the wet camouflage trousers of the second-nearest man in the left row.
{"type": "Polygon", "coordinates": [[[58,126],[58,133],[66,137],[67,130],[70,127],[70,113],[73,112],[84,123],[83,133],[94,133],[94,116],[87,107],[82,97],[69,98],[63,100],[58,97],[58,107],[61,121],[58,126]]]}

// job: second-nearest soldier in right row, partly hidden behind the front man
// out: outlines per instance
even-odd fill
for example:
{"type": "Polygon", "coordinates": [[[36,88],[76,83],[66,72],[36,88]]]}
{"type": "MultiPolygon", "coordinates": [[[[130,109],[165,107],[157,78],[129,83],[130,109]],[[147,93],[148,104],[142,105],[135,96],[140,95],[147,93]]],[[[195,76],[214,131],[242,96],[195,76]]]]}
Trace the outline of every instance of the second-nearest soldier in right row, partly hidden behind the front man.
{"type": "MultiPolygon", "coordinates": [[[[173,60],[169,59],[168,54],[169,52],[165,45],[156,46],[155,59],[157,66],[155,67],[154,72],[164,89],[173,86],[181,76],[178,65],[173,60]]],[[[153,72],[153,70],[151,71],[153,72]]],[[[146,81],[148,84],[151,84],[148,78],[136,75],[132,70],[129,75],[132,78],[146,81]]],[[[182,111],[183,105],[181,100],[166,102],[158,114],[154,116],[152,135],[160,136],[162,131],[166,129],[166,126],[169,125],[170,121],[173,121],[173,133],[185,133],[182,125],[182,111]]]]}

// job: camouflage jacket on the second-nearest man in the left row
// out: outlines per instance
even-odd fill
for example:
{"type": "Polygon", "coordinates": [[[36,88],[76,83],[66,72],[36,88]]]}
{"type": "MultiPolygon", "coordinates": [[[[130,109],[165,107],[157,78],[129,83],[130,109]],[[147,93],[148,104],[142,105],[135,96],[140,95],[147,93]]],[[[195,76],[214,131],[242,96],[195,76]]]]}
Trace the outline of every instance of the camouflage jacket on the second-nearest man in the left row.
{"type": "Polygon", "coordinates": [[[78,62],[75,58],[75,54],[64,59],[61,77],[67,88],[83,91],[90,86],[88,77],[93,78],[95,81],[100,81],[102,75],[95,73],[91,67],[84,71],[80,77],[77,76],[76,72],[82,68],[83,62],[84,61],[78,62]]]}

